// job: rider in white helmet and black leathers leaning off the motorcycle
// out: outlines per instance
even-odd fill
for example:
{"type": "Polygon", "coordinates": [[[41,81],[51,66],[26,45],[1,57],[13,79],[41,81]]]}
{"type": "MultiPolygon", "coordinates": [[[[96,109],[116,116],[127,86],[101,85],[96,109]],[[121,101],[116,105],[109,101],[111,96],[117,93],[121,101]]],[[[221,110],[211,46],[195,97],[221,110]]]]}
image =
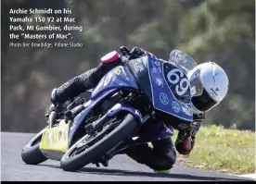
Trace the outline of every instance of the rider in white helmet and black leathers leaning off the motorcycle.
{"type": "MultiPolygon", "coordinates": [[[[145,55],[156,57],[144,49],[137,47],[134,47],[130,54],[134,56],[131,56],[129,59],[145,55]]],[[[173,50],[169,61],[162,59],[161,61],[177,65],[179,62],[186,62],[186,59],[193,58],[182,51],[173,50]]],[[[119,55],[116,51],[103,56],[97,67],[85,71],[83,74],[72,78],[52,91],[52,105],[49,111],[58,112],[62,104],[82,92],[95,88],[99,80],[101,80],[109,70],[123,64],[122,55],[119,55]]],[[[193,126],[185,130],[179,130],[174,146],[171,138],[165,138],[152,142],[153,148],[149,147],[146,143],[132,146],[125,150],[125,153],[137,163],[146,165],[155,172],[169,173],[171,171],[176,161],[175,150],[180,154],[189,154],[192,151],[196,134],[200,128],[201,122],[205,118],[205,113],[217,104],[220,104],[228,90],[228,78],[224,69],[215,63],[207,62],[193,68],[191,67],[191,70],[186,70],[186,75],[190,83],[199,82],[200,85],[196,86],[201,86],[202,88],[193,89],[194,91],[191,91],[192,94],[193,92],[197,93],[192,97],[193,126]],[[198,90],[201,92],[195,92],[198,90]]]]}

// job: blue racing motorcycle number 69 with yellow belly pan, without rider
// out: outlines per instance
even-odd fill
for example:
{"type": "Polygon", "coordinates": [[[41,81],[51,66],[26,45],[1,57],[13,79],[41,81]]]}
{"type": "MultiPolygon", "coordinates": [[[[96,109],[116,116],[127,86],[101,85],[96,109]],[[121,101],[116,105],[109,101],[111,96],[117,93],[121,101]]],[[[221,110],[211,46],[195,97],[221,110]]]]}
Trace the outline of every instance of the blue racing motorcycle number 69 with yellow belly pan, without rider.
{"type": "MultiPolygon", "coordinates": [[[[121,53],[128,61],[130,50],[122,47],[121,53]]],[[[180,56],[179,51],[172,56],[180,56]]],[[[28,165],[56,160],[66,171],[109,166],[130,146],[172,137],[173,129],[190,126],[191,89],[195,93],[200,87],[189,83],[186,70],[196,61],[181,57],[171,64],[147,55],[125,63],[99,81],[88,101],[77,97],[58,117],[48,115],[47,127],[22,149],[22,160],[28,165]]]]}

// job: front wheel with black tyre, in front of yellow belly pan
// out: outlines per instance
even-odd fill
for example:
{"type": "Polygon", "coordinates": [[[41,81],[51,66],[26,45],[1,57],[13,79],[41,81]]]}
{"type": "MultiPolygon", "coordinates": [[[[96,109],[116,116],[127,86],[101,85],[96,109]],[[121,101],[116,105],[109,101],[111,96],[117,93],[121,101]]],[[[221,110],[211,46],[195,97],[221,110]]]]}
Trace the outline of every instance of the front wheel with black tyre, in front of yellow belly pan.
{"type": "MultiPolygon", "coordinates": [[[[111,119],[109,120],[111,121],[111,119]]],[[[138,127],[136,119],[128,114],[122,122],[113,120],[92,135],[86,134],[65,153],[60,166],[66,171],[76,171],[103,156],[119,142],[130,136],[138,127]],[[115,126],[117,125],[117,126],[115,126]]]]}

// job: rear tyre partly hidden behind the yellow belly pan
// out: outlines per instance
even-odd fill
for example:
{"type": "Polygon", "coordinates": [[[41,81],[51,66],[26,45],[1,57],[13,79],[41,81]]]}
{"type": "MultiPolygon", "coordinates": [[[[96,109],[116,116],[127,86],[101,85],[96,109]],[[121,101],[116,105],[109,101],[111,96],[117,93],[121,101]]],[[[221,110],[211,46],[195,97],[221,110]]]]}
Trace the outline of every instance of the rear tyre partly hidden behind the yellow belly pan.
{"type": "Polygon", "coordinates": [[[21,151],[21,158],[27,165],[38,165],[45,162],[47,158],[39,150],[40,141],[45,129],[36,134],[21,151]]]}

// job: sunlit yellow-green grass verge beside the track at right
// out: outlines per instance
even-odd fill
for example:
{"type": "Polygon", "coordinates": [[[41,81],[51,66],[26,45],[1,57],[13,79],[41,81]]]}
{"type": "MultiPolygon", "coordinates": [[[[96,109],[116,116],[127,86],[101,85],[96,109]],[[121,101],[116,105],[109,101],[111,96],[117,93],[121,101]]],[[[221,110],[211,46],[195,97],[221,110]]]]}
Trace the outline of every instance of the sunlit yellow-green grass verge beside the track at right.
{"type": "MultiPolygon", "coordinates": [[[[173,136],[176,140],[177,131],[173,136]]],[[[233,174],[255,173],[255,132],[202,126],[189,155],[178,154],[177,164],[233,174]],[[184,165],[184,162],[183,162],[184,165]]]]}

